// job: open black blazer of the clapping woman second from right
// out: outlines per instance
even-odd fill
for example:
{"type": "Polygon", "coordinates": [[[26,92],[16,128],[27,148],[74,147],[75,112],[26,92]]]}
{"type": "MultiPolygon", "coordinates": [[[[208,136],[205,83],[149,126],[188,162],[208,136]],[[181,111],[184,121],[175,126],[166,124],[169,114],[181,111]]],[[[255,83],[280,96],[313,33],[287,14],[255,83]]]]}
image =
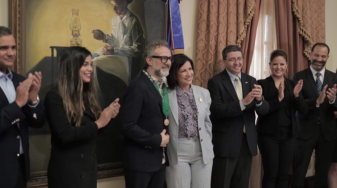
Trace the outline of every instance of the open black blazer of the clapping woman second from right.
{"type": "MultiPolygon", "coordinates": [[[[275,82],[271,76],[268,76],[265,79],[257,80],[257,83],[262,86],[262,94],[264,99],[269,103],[268,112],[264,115],[258,114],[259,116],[256,122],[257,132],[276,135],[281,102],[278,100],[278,92],[275,87],[275,82]]],[[[301,94],[297,99],[294,98],[293,92],[296,84],[292,80],[284,78],[284,85],[284,89],[287,89],[290,95],[291,103],[289,104],[290,108],[288,112],[291,118],[292,134],[295,135],[297,133],[297,123],[295,116],[296,109],[305,112],[305,110],[307,110],[307,106],[305,105],[306,103],[301,94]]]]}

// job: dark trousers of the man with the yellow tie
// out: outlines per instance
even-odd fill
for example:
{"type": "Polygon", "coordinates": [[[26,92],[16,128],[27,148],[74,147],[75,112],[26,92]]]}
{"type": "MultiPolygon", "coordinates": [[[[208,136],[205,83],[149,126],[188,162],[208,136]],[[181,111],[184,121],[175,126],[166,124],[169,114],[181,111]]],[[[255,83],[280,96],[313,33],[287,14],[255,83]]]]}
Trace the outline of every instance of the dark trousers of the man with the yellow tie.
{"type": "MultiPolygon", "coordinates": [[[[228,143],[231,144],[231,143],[228,143]]],[[[246,134],[243,134],[240,155],[238,157],[215,156],[213,159],[211,187],[212,188],[247,188],[252,154],[249,150],[246,134]]]]}

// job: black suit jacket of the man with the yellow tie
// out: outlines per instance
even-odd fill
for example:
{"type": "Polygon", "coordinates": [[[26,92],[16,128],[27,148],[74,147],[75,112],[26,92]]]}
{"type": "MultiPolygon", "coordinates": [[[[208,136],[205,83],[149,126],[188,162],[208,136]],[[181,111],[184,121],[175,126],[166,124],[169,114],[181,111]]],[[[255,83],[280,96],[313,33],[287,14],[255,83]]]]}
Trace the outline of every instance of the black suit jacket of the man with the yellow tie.
{"type": "MultiPolygon", "coordinates": [[[[241,72],[242,93],[245,97],[257,83],[256,79],[241,72]]],[[[211,94],[211,121],[215,156],[238,157],[241,148],[243,125],[252,155],[257,154],[255,110],[260,114],[268,111],[268,102],[256,107],[255,99],[242,111],[234,85],[225,69],[208,81],[211,94]]]]}

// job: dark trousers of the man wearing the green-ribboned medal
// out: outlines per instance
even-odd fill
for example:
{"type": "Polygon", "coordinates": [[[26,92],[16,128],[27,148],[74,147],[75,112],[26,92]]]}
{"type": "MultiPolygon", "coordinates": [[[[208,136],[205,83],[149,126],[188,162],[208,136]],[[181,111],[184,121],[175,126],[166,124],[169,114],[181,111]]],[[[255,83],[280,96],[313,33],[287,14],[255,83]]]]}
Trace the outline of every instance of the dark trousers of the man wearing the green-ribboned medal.
{"type": "Polygon", "coordinates": [[[158,171],[142,172],[124,170],[126,188],[161,188],[165,182],[165,164],[158,171]]]}

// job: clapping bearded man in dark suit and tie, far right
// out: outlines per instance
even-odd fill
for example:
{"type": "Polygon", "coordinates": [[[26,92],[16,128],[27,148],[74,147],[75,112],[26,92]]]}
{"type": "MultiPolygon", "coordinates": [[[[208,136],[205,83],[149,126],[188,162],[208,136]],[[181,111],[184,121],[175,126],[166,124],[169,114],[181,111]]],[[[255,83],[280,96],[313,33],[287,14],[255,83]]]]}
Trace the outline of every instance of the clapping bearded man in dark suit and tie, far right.
{"type": "Polygon", "coordinates": [[[327,172],[337,138],[334,104],[337,75],[325,69],[329,47],[312,46],[309,68],[294,74],[293,81],[303,79],[302,95],[308,106],[304,114],[296,112],[298,133],[293,168],[293,187],[304,187],[305,174],[315,149],[315,187],[327,187],[327,172]],[[317,88],[318,86],[318,88],[317,88]]]}

